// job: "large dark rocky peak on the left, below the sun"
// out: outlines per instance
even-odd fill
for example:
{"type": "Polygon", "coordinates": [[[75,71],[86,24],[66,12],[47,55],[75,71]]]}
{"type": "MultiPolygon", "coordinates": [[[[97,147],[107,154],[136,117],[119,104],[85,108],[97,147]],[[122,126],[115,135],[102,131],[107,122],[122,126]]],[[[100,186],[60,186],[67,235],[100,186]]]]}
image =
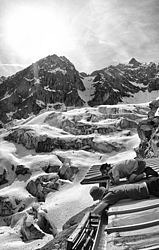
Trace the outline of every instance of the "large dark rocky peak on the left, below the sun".
{"type": "Polygon", "coordinates": [[[0,85],[3,122],[37,114],[50,103],[82,106],[77,90],[84,90],[74,65],[65,57],[48,56],[4,79],[0,85]]]}

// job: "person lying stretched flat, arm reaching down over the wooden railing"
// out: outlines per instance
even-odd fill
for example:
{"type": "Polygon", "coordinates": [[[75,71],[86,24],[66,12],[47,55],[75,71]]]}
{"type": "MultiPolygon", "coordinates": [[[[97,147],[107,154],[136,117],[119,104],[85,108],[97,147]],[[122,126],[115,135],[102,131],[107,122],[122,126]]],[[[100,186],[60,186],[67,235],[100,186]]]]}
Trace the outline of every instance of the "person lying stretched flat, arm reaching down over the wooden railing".
{"type": "Polygon", "coordinates": [[[140,183],[111,187],[109,190],[93,186],[90,195],[94,201],[100,200],[92,213],[101,214],[104,209],[122,199],[142,200],[150,198],[150,195],[159,197],[159,177],[151,177],[140,183]]]}

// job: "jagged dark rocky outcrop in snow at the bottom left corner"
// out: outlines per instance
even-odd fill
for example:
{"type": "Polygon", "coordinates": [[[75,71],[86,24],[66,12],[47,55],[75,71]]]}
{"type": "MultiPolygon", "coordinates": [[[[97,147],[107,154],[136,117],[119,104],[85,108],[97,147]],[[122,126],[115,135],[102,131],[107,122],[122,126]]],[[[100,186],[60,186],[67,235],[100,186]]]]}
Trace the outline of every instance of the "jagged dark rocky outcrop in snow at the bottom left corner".
{"type": "Polygon", "coordinates": [[[0,197],[0,226],[15,228],[24,242],[35,239],[42,239],[45,233],[55,237],[58,233],[54,224],[49,222],[47,211],[40,208],[38,203],[22,201],[16,197],[0,197]],[[26,204],[25,204],[26,202],[26,204]]]}

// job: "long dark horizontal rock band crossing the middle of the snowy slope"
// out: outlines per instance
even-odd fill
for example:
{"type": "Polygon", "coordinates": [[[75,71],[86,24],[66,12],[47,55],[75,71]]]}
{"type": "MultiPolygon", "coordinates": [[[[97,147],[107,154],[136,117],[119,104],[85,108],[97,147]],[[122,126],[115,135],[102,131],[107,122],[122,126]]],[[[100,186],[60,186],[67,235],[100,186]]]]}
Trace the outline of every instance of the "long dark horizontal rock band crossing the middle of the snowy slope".
{"type": "Polygon", "coordinates": [[[48,137],[48,135],[37,135],[32,129],[18,128],[14,129],[8,136],[5,137],[8,141],[21,143],[27,149],[35,149],[36,152],[52,152],[55,149],[63,150],[79,150],[85,149],[88,151],[98,151],[110,153],[111,151],[119,151],[124,149],[122,143],[118,142],[96,142],[94,135],[92,136],[71,136],[64,137],[48,137]]]}

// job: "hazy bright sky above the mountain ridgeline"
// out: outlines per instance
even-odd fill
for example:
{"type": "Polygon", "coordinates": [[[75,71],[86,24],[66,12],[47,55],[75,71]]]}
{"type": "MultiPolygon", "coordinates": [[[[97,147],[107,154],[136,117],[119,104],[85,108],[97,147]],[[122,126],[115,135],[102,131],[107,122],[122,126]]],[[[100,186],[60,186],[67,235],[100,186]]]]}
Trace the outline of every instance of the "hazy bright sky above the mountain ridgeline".
{"type": "Polygon", "coordinates": [[[78,71],[159,62],[159,0],[0,0],[0,76],[56,54],[78,71]]]}

